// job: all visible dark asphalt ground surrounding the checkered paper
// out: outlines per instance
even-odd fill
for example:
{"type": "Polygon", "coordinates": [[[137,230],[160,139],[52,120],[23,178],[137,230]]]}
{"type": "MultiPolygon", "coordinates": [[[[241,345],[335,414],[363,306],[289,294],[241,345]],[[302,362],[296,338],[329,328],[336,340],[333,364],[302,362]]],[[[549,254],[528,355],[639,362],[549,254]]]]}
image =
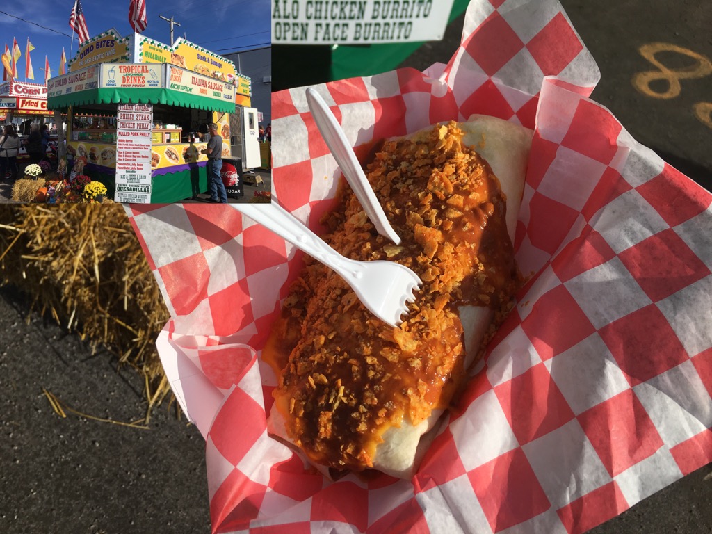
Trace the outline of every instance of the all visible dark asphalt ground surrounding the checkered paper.
{"type": "MultiPolygon", "coordinates": [[[[712,3],[562,4],[602,73],[592,98],[639,142],[712,190],[712,72],[705,74],[712,3]],[[662,74],[640,76],[654,71],[662,74]],[[668,94],[670,88],[679,91],[668,94]]],[[[422,46],[404,65],[448,61],[461,26],[460,17],[444,41],[422,46]]],[[[53,320],[30,314],[26,295],[8,288],[0,289],[0,391],[0,533],[209,532],[197,429],[168,405],[148,429],[116,424],[144,414],[137,373],[117,370],[108,353],[92,354],[53,320]],[[68,411],[61,417],[45,390],[65,407],[113,422],[68,411]]],[[[712,464],[590,533],[710,533],[711,503],[712,464]]]]}

